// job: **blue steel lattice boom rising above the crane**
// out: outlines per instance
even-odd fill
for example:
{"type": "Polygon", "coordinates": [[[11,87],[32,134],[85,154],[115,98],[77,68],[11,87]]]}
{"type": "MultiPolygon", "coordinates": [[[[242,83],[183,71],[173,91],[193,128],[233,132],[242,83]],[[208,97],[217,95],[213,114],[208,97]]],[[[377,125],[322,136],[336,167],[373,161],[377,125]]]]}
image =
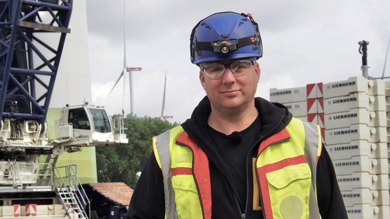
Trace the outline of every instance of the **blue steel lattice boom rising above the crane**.
{"type": "Polygon", "coordinates": [[[70,32],[71,8],[72,0],[0,1],[1,120],[29,118],[41,125],[45,122],[70,32]],[[40,39],[42,33],[58,35],[58,42],[47,44],[40,39]]]}

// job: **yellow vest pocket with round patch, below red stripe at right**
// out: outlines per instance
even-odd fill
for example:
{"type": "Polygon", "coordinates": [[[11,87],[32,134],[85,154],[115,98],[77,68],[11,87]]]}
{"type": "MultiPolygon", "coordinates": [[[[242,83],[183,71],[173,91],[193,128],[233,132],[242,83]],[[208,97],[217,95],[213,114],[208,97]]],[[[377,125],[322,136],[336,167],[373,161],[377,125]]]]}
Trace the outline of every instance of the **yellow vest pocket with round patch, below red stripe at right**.
{"type": "Polygon", "coordinates": [[[269,200],[275,218],[308,218],[312,187],[308,164],[285,166],[266,173],[269,200]]]}

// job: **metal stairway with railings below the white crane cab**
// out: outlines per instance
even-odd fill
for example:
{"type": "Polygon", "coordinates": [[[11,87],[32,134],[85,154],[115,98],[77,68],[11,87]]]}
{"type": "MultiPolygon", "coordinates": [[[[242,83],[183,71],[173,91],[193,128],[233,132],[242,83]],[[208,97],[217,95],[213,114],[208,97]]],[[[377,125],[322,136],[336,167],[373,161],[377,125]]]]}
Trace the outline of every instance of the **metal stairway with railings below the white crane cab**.
{"type": "Polygon", "coordinates": [[[76,165],[71,164],[60,168],[54,166],[54,179],[56,194],[60,198],[68,218],[91,218],[87,215],[87,212],[89,212],[88,214],[91,212],[91,206],[87,194],[78,180],[76,165]],[[67,178],[60,176],[60,169],[65,169],[67,178]]]}

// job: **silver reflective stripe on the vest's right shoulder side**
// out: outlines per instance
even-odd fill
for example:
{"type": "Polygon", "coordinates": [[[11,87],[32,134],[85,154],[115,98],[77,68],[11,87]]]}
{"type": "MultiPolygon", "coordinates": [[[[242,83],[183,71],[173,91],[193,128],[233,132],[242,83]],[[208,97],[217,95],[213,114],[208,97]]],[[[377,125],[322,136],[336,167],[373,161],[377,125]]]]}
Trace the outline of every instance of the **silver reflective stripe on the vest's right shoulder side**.
{"type": "Polygon", "coordinates": [[[310,190],[309,215],[310,218],[321,218],[314,188],[317,183],[317,151],[319,150],[319,133],[317,125],[302,120],[305,129],[305,155],[306,161],[312,170],[312,189],[310,190]]]}

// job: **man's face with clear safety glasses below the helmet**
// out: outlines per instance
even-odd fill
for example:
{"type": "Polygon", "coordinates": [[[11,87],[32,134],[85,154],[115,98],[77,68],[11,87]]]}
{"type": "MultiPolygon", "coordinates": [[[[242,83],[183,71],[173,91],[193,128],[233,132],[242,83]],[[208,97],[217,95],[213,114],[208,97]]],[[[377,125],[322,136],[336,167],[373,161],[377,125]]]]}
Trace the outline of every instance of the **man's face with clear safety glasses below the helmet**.
{"type": "MultiPolygon", "coordinates": [[[[242,59],[247,60],[247,59],[242,59]]],[[[209,97],[212,110],[245,110],[245,107],[254,105],[254,96],[257,83],[260,79],[260,66],[252,62],[250,66],[240,60],[225,60],[220,62],[205,62],[200,64],[199,79],[209,97]],[[223,64],[224,66],[214,65],[223,64]],[[216,66],[216,67],[215,67],[216,66]],[[228,68],[230,66],[230,68],[228,68]],[[225,73],[218,79],[209,77],[214,70],[223,70],[225,73]],[[233,74],[235,71],[235,74],[233,74]],[[208,74],[207,74],[208,73],[208,74]]],[[[229,111],[228,111],[229,112],[229,111]]]]}

